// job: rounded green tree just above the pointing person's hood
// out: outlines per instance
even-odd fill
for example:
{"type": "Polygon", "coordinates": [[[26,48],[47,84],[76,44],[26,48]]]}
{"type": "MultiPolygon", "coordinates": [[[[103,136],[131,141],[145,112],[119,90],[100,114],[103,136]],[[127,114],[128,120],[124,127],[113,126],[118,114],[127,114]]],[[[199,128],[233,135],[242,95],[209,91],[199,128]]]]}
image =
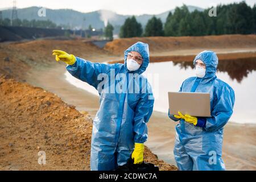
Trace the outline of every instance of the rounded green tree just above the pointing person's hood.
{"type": "Polygon", "coordinates": [[[142,35],[142,25],[138,23],[135,16],[127,18],[125,23],[121,26],[119,37],[120,38],[133,38],[142,35]]]}

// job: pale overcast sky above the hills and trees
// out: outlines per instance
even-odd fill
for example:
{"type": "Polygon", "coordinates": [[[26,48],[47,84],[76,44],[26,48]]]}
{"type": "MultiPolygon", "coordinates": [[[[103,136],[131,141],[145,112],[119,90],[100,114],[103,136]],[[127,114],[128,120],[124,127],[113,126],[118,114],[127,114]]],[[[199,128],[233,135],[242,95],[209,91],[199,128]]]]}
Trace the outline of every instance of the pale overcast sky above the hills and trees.
{"type": "MultiPolygon", "coordinates": [[[[207,8],[213,5],[241,2],[239,0],[16,0],[18,8],[30,6],[43,6],[49,9],[73,9],[87,13],[96,10],[112,10],[123,15],[160,14],[164,11],[174,9],[176,6],[192,5],[207,8]]],[[[247,5],[253,6],[256,0],[245,1],[247,5]]],[[[13,0],[1,0],[0,9],[12,7],[13,0]]]]}

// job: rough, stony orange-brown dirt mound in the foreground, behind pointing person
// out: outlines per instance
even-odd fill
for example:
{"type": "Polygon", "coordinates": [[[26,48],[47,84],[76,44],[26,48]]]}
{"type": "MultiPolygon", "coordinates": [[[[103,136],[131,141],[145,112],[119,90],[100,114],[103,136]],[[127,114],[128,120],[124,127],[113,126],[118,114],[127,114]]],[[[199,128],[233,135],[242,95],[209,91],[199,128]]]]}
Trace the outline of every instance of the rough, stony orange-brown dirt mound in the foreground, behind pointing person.
{"type": "MultiPolygon", "coordinates": [[[[92,119],[42,88],[0,77],[0,169],[89,170],[92,119]],[[38,152],[46,152],[46,165],[38,152]]],[[[176,167],[146,147],[146,162],[176,167]]]]}

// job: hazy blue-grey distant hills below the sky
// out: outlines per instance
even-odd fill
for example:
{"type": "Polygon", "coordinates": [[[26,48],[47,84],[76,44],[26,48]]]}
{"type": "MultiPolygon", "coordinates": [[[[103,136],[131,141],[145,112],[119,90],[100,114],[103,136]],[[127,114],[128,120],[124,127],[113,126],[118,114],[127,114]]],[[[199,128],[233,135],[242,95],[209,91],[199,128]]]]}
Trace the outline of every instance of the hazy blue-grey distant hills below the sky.
{"type": "MultiPolygon", "coordinates": [[[[27,7],[24,9],[18,9],[18,18],[19,19],[36,19],[36,20],[51,20],[57,25],[65,24],[70,28],[81,28],[83,19],[85,18],[84,28],[88,28],[89,24],[92,25],[93,28],[99,29],[104,28],[104,24],[108,21],[114,25],[114,27],[120,27],[125,22],[125,19],[130,17],[131,15],[119,15],[109,10],[98,10],[90,13],[81,13],[79,11],[71,10],[71,9],[59,9],[52,10],[46,9],[46,17],[38,16],[38,10],[40,7],[27,7]]],[[[199,10],[203,11],[200,7],[196,6],[188,6],[189,11],[199,10]]],[[[170,10],[172,13],[174,10],[170,10]]],[[[163,22],[166,21],[167,15],[170,11],[166,11],[164,13],[155,15],[157,18],[160,18],[163,22]]],[[[146,26],[148,19],[152,18],[153,15],[138,15],[136,16],[138,22],[142,24],[142,26],[146,26]]],[[[11,9],[2,10],[3,18],[11,17],[11,9]]]]}

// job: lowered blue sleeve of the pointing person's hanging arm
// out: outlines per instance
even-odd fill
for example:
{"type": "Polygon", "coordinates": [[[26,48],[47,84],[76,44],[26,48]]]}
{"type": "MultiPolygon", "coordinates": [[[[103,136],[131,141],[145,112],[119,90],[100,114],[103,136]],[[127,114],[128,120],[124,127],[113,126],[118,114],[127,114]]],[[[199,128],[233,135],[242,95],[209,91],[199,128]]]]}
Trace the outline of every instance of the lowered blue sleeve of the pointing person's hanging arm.
{"type": "MultiPolygon", "coordinates": [[[[151,90],[151,88],[150,88],[151,90]]],[[[144,143],[147,140],[147,125],[146,123],[151,117],[154,105],[154,97],[152,92],[143,93],[140,98],[134,114],[133,131],[134,143],[144,143]]]]}

